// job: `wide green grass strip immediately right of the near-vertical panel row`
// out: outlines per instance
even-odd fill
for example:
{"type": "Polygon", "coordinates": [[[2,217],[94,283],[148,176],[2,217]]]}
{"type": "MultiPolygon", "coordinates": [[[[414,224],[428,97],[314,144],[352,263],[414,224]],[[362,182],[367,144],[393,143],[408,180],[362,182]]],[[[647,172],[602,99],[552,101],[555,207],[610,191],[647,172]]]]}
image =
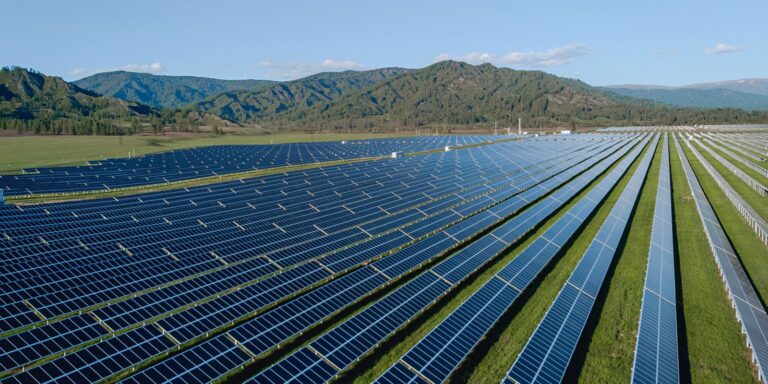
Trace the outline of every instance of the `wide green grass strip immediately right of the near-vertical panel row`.
{"type": "Polygon", "coordinates": [[[682,315],[678,334],[681,356],[687,357],[681,364],[681,379],[694,383],[754,383],[749,351],[674,145],[670,145],[669,158],[680,278],[677,304],[678,315],[682,315]]]}

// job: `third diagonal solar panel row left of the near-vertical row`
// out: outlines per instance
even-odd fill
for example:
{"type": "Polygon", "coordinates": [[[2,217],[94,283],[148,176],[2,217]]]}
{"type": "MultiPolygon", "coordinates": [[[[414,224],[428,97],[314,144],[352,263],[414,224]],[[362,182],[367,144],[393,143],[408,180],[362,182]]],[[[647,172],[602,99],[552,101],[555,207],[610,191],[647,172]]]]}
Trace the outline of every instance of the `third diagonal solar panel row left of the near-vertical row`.
{"type": "MultiPolygon", "coordinates": [[[[580,163],[551,179],[551,183],[540,184],[537,189],[541,192],[537,192],[536,195],[560,187],[570,177],[578,175],[587,167],[593,166],[597,161],[607,157],[607,160],[601,162],[596,168],[592,168],[575,180],[568,182],[565,187],[553,195],[493,229],[469,246],[462,248],[371,307],[331,329],[307,347],[255,376],[251,381],[278,383],[296,380],[302,383],[320,383],[329,380],[369,353],[396,330],[404,327],[414,316],[433,305],[435,300],[446,295],[471,276],[474,271],[500,255],[525,233],[545,220],[565,204],[570,196],[576,194],[597,177],[602,170],[626,153],[627,146],[624,147],[624,150],[619,150],[613,154],[593,156],[588,161],[581,162],[585,159],[580,159],[580,163]],[[308,359],[306,356],[314,357],[308,359]],[[323,367],[318,368],[318,366],[323,367]],[[317,372],[323,372],[323,374],[317,374],[317,372]]],[[[536,197],[530,194],[524,198],[521,196],[519,204],[535,200],[536,197]]],[[[434,382],[439,381],[441,380],[434,382]]]]}

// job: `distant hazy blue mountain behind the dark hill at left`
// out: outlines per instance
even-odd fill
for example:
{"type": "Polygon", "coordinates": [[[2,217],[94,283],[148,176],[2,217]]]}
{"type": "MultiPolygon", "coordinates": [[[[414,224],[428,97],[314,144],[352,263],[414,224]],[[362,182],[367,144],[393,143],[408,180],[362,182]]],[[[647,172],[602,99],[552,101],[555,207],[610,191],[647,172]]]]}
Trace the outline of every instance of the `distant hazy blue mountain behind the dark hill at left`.
{"type": "Polygon", "coordinates": [[[126,71],[104,72],[74,81],[83,89],[156,108],[178,108],[221,92],[251,90],[269,80],[219,80],[194,76],[159,76],[126,71]]]}

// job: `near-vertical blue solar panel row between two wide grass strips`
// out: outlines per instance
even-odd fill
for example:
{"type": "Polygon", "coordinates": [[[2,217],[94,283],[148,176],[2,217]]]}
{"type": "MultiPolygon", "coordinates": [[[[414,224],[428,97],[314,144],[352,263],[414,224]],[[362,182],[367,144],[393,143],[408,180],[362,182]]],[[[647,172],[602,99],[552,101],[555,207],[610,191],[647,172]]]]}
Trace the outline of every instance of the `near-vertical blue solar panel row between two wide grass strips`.
{"type": "Polygon", "coordinates": [[[679,383],[669,143],[664,135],[632,382],[679,383]]]}

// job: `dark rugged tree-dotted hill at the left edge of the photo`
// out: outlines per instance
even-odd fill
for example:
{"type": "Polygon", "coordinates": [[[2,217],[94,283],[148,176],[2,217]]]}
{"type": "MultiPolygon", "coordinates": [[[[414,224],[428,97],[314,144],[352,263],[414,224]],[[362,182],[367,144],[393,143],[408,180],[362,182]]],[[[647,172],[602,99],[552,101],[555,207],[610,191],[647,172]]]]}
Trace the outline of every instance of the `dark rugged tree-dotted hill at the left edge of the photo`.
{"type": "Polygon", "coordinates": [[[145,105],[103,97],[59,77],[18,67],[0,69],[0,118],[113,119],[152,112],[145,105]]]}

